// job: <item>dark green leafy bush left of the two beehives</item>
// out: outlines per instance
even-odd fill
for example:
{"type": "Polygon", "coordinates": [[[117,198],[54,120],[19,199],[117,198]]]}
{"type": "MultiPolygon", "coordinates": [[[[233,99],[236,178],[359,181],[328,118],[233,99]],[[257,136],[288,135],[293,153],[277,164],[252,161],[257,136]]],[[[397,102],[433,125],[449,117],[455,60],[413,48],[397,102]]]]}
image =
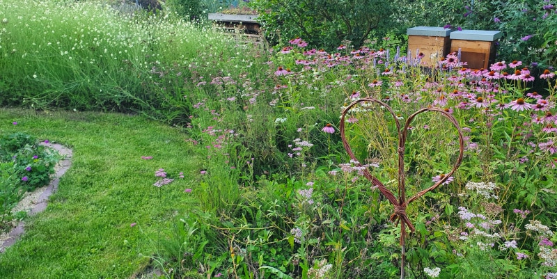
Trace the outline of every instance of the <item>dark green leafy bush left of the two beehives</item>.
{"type": "Polygon", "coordinates": [[[357,48],[370,33],[386,33],[394,11],[391,2],[377,0],[256,0],[250,5],[259,11],[258,19],[272,42],[299,37],[311,47],[329,50],[343,44],[357,48]]]}

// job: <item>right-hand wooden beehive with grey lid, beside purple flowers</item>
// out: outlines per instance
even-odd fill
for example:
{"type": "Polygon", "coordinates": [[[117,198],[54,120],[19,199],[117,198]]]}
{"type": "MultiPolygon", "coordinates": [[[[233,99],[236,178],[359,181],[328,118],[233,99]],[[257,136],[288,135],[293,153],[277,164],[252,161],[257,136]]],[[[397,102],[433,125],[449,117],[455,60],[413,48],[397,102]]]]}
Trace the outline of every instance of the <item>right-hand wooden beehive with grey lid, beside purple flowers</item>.
{"type": "Polygon", "coordinates": [[[503,35],[500,31],[462,30],[450,33],[450,51],[460,49],[460,60],[469,69],[488,69],[495,61],[496,41],[503,35]]]}

